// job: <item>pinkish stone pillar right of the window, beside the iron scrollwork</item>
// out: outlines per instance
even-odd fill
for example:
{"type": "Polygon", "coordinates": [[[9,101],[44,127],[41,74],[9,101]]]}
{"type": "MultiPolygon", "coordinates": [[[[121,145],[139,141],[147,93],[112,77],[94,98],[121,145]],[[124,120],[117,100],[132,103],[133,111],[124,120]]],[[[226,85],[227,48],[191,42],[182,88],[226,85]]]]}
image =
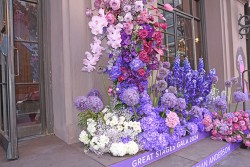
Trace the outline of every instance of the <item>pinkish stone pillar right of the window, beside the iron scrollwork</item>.
{"type": "MultiPolygon", "coordinates": [[[[247,0],[205,0],[205,19],[209,68],[216,68],[218,87],[224,89],[224,82],[239,77],[239,50],[247,62],[246,39],[240,39],[238,19],[244,14],[247,0]]],[[[246,67],[246,64],[245,64],[246,67]]]]}

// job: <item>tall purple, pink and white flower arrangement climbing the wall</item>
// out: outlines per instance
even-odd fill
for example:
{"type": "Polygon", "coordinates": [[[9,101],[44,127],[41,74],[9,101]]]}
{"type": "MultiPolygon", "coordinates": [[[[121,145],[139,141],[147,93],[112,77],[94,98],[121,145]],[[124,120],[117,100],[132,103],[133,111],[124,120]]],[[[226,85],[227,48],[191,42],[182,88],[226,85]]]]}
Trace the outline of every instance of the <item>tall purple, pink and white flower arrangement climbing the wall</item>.
{"type": "MultiPolygon", "coordinates": [[[[107,87],[103,77],[105,108],[96,90],[75,101],[83,127],[79,140],[98,155],[162,150],[207,128],[203,123],[211,116],[206,104],[211,101],[216,71],[206,74],[202,59],[198,70],[191,69],[187,58],[182,66],[179,56],[172,68],[169,62],[159,61],[159,55],[164,55],[162,32],[167,24],[150,5],[153,1],[95,0],[95,9],[86,11],[94,37],[82,71],[92,72],[101,56],[108,55],[101,72],[113,81],[107,87]]],[[[169,4],[164,8],[173,10],[169,4]]]]}

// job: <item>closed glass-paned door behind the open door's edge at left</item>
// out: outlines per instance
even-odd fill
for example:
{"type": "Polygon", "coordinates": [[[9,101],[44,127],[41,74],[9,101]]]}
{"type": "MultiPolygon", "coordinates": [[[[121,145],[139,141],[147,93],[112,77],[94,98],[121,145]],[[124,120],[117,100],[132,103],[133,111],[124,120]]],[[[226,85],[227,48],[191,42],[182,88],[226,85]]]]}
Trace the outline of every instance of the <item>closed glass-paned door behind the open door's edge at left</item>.
{"type": "Polygon", "coordinates": [[[18,138],[42,134],[38,2],[13,0],[18,138]]]}

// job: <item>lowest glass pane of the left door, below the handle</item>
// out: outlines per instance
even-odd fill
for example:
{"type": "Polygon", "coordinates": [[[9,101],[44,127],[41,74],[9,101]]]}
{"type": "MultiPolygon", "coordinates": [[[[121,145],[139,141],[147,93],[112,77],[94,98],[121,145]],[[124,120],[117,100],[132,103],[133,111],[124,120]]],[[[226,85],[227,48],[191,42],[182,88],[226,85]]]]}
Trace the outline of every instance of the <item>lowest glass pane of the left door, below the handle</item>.
{"type": "Polygon", "coordinates": [[[17,125],[41,123],[39,85],[16,85],[17,125]]]}

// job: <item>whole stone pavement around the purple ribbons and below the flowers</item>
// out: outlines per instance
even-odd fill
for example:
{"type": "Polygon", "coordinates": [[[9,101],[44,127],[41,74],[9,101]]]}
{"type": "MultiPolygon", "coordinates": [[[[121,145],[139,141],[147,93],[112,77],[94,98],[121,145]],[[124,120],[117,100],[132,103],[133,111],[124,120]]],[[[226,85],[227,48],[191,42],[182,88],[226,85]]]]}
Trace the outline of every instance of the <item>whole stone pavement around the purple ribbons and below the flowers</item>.
{"type": "MultiPolygon", "coordinates": [[[[192,166],[206,156],[205,152],[210,154],[224,144],[207,138],[148,166],[192,166]]],[[[82,147],[80,143],[68,145],[54,135],[34,138],[19,143],[20,158],[15,161],[7,161],[5,152],[0,147],[0,167],[103,167],[125,159],[110,155],[97,157],[92,153],[84,154],[82,147]]],[[[250,166],[250,151],[237,149],[215,166],[250,166]]]]}

